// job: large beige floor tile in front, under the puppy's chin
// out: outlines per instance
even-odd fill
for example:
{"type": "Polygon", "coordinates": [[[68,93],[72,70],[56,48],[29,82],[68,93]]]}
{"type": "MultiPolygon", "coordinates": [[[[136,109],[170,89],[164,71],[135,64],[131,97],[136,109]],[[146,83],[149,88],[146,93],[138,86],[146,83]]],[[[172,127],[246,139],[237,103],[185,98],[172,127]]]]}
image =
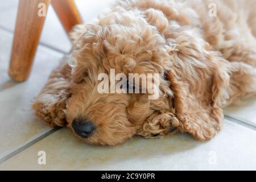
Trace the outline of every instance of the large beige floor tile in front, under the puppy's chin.
{"type": "Polygon", "coordinates": [[[61,129],[0,164],[0,169],[256,169],[255,140],[255,130],[229,121],[209,142],[176,134],[135,137],[114,147],[90,146],[61,129]],[[38,164],[39,151],[46,152],[46,165],[38,164]]]}

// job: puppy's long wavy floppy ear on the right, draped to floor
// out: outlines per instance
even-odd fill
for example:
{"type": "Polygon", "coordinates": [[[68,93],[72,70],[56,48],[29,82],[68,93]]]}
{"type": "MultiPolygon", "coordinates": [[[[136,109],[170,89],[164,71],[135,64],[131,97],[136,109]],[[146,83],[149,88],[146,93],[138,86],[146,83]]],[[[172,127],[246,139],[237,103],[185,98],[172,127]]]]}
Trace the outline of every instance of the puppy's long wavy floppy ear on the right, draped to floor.
{"type": "Polygon", "coordinates": [[[178,129],[196,139],[208,140],[221,129],[221,99],[229,84],[229,64],[214,57],[214,53],[185,53],[175,55],[168,72],[175,115],[181,123],[178,129]]]}

